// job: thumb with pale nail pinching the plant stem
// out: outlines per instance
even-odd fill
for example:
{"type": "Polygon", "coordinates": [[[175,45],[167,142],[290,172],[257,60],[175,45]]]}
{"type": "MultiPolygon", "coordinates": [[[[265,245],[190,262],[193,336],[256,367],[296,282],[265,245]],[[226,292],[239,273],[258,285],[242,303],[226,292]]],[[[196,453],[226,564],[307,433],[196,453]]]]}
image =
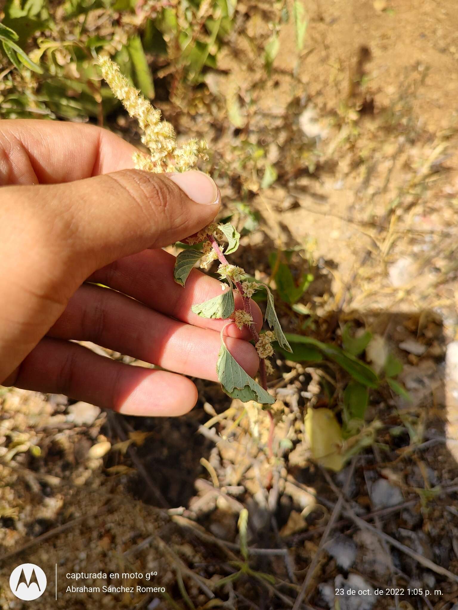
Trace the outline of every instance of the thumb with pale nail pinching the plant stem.
{"type": "Polygon", "coordinates": [[[170,174],[123,170],[32,188],[46,190],[51,215],[60,217],[67,256],[78,260],[79,267],[87,262],[89,273],[120,257],[200,231],[213,221],[220,206],[214,181],[195,170],[170,174]]]}

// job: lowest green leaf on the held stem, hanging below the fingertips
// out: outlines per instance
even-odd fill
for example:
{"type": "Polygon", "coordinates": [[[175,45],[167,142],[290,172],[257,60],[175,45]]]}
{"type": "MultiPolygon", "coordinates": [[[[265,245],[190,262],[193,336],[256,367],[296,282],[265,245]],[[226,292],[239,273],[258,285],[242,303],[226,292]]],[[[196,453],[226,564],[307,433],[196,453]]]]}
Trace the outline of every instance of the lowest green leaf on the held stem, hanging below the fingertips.
{"type": "Polygon", "coordinates": [[[231,356],[224,343],[223,331],[221,331],[221,349],[216,363],[216,373],[222,389],[231,398],[238,398],[242,403],[247,403],[249,400],[261,404],[275,402],[274,397],[247,375],[231,356]]]}

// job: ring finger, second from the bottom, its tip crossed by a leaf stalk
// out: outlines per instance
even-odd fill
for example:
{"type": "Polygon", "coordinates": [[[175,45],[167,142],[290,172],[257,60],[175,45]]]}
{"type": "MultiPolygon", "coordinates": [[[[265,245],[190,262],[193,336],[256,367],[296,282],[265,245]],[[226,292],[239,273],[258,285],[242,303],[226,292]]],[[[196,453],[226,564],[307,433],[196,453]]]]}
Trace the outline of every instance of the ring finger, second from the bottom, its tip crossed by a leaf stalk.
{"type": "MultiPolygon", "coordinates": [[[[49,330],[56,339],[91,341],[176,373],[217,381],[219,332],[173,320],[128,296],[82,285],[49,330]]],[[[249,373],[258,370],[255,348],[225,337],[228,350],[249,373]]]]}

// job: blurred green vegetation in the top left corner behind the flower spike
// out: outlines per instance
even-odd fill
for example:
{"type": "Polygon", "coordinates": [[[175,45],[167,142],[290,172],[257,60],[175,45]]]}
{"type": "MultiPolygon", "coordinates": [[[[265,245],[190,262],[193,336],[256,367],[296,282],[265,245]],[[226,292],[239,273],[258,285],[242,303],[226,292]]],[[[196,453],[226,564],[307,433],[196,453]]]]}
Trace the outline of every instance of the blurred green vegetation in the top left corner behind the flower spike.
{"type": "Polygon", "coordinates": [[[96,54],[108,52],[150,99],[180,102],[217,68],[237,0],[7,0],[1,20],[1,114],[96,119],[114,109],[96,54]],[[11,64],[18,71],[10,70],[11,64]],[[153,76],[154,75],[154,76],[153,76]]]}

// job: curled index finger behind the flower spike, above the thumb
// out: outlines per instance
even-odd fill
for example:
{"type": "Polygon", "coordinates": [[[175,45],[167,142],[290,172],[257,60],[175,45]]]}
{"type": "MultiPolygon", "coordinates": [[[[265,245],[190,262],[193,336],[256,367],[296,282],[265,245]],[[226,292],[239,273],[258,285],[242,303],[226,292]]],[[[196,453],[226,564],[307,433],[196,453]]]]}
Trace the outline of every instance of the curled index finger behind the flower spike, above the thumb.
{"type": "Polygon", "coordinates": [[[132,169],[136,151],[94,125],[5,119],[0,129],[0,186],[73,182],[132,169]]]}

